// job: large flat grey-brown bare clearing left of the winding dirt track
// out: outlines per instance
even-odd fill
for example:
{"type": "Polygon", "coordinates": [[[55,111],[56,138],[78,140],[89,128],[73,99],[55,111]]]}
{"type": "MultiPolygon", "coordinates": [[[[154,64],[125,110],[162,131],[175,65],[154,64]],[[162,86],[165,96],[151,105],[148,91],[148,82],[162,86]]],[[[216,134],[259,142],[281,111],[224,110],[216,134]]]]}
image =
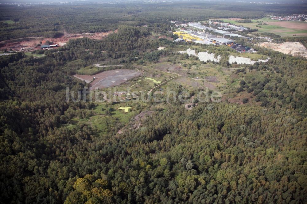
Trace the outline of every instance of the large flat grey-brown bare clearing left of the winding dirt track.
{"type": "Polygon", "coordinates": [[[127,69],[116,69],[104,71],[95,75],[80,75],[76,74],[73,77],[76,77],[80,80],[84,80],[87,83],[90,83],[90,87],[95,89],[96,87],[99,89],[117,86],[122,84],[129,79],[141,75],[142,72],[139,70],[127,70],[127,69]],[[95,77],[95,79],[94,79],[95,77]]]}

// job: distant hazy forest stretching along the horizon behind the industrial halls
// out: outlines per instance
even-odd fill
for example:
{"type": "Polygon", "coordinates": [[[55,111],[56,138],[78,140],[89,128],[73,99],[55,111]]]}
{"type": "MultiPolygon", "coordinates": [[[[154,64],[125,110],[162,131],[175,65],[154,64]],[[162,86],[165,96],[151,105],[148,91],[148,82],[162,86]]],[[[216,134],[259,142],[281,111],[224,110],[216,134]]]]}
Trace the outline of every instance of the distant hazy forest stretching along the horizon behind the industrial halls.
{"type": "Polygon", "coordinates": [[[200,21],[208,17],[253,19],[260,18],[265,13],[286,15],[304,13],[305,10],[305,4],[258,4],[251,7],[249,3],[235,2],[231,4],[210,2],[139,3],[135,6],[131,6],[131,4],[33,7],[1,5],[0,17],[16,23],[0,22],[0,41],[23,37],[58,37],[64,32],[107,32],[117,29],[119,25],[169,24],[171,20],[200,21]]]}

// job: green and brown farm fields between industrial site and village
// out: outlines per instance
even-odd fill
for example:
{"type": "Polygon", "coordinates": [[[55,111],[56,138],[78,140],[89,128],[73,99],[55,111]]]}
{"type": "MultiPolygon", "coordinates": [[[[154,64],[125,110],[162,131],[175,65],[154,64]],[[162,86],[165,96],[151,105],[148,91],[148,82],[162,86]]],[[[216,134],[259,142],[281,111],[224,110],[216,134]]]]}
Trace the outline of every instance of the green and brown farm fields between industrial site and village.
{"type": "MultiPolygon", "coordinates": [[[[253,19],[251,23],[238,23],[236,20],[220,18],[224,22],[233,23],[235,25],[242,25],[252,29],[258,29],[258,33],[272,32],[282,37],[286,36],[307,36],[307,22],[302,21],[278,21],[270,18],[253,19]],[[259,23],[266,23],[268,25],[258,25],[259,23]],[[259,27],[257,27],[257,26],[259,27]]],[[[252,32],[252,33],[257,33],[252,32]]]]}

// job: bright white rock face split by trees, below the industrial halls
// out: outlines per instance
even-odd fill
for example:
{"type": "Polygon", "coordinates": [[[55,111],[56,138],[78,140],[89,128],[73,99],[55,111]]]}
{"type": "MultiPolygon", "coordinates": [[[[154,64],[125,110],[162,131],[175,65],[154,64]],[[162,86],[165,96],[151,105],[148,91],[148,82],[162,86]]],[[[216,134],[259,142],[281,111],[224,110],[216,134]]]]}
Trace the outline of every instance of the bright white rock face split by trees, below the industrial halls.
{"type": "MultiPolygon", "coordinates": [[[[186,51],[179,51],[179,53],[184,54],[188,53],[188,55],[197,56],[200,61],[206,62],[207,60],[211,60],[214,62],[219,62],[221,59],[221,55],[219,55],[217,58],[214,57],[214,54],[209,54],[208,52],[199,52],[196,55],[195,50],[191,50],[190,48],[186,51]]],[[[235,57],[232,55],[229,55],[229,63],[233,64],[237,62],[238,64],[255,64],[256,62],[267,62],[270,58],[267,58],[266,60],[258,59],[258,61],[251,60],[246,57],[235,57]]]]}

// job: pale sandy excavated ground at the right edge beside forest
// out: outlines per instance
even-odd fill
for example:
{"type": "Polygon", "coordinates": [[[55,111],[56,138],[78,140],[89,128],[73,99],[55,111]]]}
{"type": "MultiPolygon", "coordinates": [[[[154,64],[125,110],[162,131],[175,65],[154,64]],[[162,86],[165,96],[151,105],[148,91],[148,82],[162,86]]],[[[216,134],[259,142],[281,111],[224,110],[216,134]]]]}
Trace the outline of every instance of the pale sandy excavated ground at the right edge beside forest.
{"type": "Polygon", "coordinates": [[[291,54],[292,56],[301,56],[307,58],[307,49],[302,43],[299,42],[284,42],[281,44],[265,42],[260,43],[259,45],[262,47],[271,48],[284,54],[291,54]]]}

